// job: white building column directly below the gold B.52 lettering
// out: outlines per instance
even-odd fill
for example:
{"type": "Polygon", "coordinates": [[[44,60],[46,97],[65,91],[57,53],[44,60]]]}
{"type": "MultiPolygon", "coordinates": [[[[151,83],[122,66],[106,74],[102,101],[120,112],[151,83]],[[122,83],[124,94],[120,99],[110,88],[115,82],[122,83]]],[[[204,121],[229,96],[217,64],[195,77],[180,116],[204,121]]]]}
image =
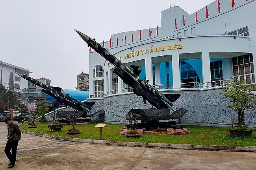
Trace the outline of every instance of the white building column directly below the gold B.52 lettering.
{"type": "Polygon", "coordinates": [[[172,54],[172,66],[173,66],[173,88],[179,89],[180,88],[180,57],[179,53],[174,52],[172,54]]]}

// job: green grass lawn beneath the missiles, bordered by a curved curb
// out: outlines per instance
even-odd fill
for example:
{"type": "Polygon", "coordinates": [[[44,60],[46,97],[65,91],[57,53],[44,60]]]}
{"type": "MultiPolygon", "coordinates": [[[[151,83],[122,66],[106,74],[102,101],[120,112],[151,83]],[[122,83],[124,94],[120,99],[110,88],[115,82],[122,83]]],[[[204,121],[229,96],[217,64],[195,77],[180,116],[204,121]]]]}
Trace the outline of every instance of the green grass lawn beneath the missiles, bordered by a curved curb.
{"type": "MultiPolygon", "coordinates": [[[[43,133],[49,135],[74,137],[82,139],[96,139],[100,137],[100,128],[95,128],[96,123],[90,125],[76,126],[80,134],[68,135],[67,130],[72,126],[63,126],[61,132],[50,132],[48,123],[36,123],[38,128],[28,128],[27,123],[20,124],[23,130],[43,133]]],[[[208,126],[186,126],[189,134],[167,135],[167,134],[145,134],[137,138],[128,138],[119,134],[124,125],[107,124],[102,130],[102,138],[108,141],[143,142],[143,143],[173,143],[173,144],[204,144],[222,146],[256,146],[256,132],[250,137],[232,137],[227,128],[208,126]]]]}

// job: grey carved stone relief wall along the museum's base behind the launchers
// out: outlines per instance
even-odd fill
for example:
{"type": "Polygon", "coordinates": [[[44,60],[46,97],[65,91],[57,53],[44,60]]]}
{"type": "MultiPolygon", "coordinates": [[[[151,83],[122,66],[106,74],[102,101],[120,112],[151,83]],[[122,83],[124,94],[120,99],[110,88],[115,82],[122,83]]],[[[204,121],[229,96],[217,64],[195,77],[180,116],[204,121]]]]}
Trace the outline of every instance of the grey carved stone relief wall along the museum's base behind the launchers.
{"type": "MultiPolygon", "coordinates": [[[[229,101],[219,95],[222,88],[208,90],[172,91],[180,93],[181,97],[174,102],[174,110],[184,108],[189,110],[183,117],[186,124],[198,124],[202,126],[230,126],[230,117],[237,117],[236,112],[227,108],[229,101]]],[[[168,92],[164,92],[168,93],[168,92]]],[[[116,124],[126,124],[125,115],[130,109],[151,108],[151,104],[143,103],[142,97],[134,93],[106,96],[101,100],[93,100],[96,104],[92,112],[105,110],[105,121],[116,124]]],[[[256,127],[256,109],[245,111],[245,122],[248,126],[256,127]]]]}

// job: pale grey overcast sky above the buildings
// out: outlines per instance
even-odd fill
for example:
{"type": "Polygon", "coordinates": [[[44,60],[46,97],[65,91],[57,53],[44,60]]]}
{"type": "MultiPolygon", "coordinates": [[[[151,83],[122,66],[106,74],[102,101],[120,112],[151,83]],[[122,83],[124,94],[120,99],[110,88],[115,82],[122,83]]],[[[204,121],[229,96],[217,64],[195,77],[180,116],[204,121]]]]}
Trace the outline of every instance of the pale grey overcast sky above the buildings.
{"type": "MultiPolygon", "coordinates": [[[[187,13],[215,0],[171,0],[187,13]]],[[[0,61],[74,89],[76,77],[89,73],[89,48],[76,30],[96,41],[112,34],[161,26],[169,0],[0,0],[0,61]]]]}

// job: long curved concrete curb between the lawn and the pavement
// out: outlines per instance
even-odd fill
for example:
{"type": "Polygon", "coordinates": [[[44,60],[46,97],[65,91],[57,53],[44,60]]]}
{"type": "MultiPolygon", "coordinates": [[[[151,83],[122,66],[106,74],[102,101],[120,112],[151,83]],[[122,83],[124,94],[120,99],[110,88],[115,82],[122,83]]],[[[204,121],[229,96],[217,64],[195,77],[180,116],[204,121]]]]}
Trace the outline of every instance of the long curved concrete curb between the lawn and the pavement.
{"type": "Polygon", "coordinates": [[[46,135],[41,133],[29,132],[21,130],[22,133],[36,135],[62,141],[72,141],[78,143],[108,144],[117,146],[136,146],[148,148],[165,148],[165,149],[188,149],[188,150],[211,150],[211,151],[229,151],[229,152],[256,152],[256,146],[217,146],[217,145],[198,145],[198,144],[168,144],[168,143],[138,143],[138,142],[118,142],[106,140],[79,139],[72,137],[61,137],[54,135],[46,135]]]}

